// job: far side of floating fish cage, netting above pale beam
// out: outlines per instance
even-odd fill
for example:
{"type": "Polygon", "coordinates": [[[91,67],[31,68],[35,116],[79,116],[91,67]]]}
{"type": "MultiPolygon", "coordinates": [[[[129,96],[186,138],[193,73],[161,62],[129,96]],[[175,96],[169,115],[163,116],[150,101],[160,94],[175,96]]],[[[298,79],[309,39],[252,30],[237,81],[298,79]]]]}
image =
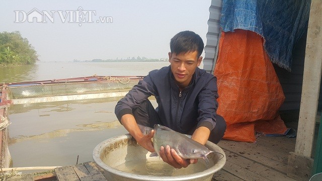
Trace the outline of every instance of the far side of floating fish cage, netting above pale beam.
{"type": "Polygon", "coordinates": [[[68,101],[124,96],[142,76],[91,76],[9,83],[7,99],[13,104],[68,101]]]}

